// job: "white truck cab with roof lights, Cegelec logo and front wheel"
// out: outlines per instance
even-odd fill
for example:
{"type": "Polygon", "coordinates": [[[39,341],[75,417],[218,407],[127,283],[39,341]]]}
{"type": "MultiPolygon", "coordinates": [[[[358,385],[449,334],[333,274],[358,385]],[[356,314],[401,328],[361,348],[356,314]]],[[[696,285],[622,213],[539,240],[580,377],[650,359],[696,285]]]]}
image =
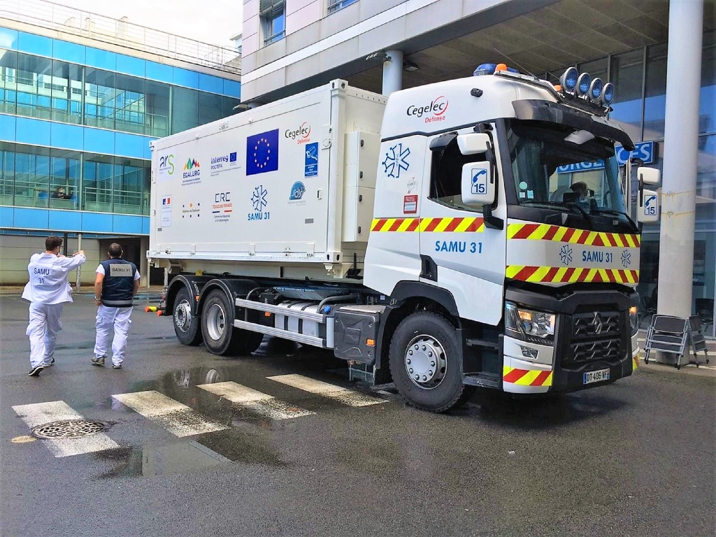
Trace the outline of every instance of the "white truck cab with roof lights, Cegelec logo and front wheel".
{"type": "MultiPolygon", "coordinates": [[[[516,394],[627,377],[640,228],[615,158],[634,145],[607,118],[614,88],[576,69],[558,87],[504,65],[475,74],[387,102],[364,284],[393,298],[393,379],[441,407],[464,397],[440,399],[460,375],[516,394]]],[[[639,221],[656,214],[645,195],[639,221]]]]}

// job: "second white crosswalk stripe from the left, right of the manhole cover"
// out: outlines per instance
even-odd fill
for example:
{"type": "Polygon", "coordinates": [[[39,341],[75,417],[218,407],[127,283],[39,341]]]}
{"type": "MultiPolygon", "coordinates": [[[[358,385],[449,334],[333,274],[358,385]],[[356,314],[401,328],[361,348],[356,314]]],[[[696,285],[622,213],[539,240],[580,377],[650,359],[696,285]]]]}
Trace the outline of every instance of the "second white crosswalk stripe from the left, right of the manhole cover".
{"type": "Polygon", "coordinates": [[[226,425],[208,420],[199,412],[154,390],[122,393],[112,397],[142,416],[158,422],[175,436],[203,435],[205,432],[228,429],[226,425]]]}

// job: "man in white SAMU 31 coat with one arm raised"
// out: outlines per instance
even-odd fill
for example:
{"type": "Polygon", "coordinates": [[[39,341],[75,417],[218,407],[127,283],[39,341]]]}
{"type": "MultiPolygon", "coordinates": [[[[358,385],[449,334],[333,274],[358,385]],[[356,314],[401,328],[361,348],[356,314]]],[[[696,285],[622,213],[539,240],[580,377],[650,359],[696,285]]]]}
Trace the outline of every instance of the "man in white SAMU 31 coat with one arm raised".
{"type": "Polygon", "coordinates": [[[62,330],[62,309],[65,302],[72,302],[67,276],[87,261],[82,250],[65,257],[59,255],[61,249],[62,238],[47,237],[44,253],[34,253],[27,265],[30,281],[22,291],[22,298],[30,301],[25,332],[30,339],[30,377],[37,377],[42,369],[54,364],[57,333],[62,330]]]}

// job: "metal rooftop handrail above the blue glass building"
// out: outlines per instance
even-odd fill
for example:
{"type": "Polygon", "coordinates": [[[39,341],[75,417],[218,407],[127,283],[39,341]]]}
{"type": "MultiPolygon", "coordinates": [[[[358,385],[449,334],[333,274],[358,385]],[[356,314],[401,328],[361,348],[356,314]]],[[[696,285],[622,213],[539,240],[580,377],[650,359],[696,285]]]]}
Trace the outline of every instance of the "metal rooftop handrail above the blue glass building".
{"type": "Polygon", "coordinates": [[[241,54],[222,47],[46,0],[0,0],[0,18],[241,74],[241,54]]]}

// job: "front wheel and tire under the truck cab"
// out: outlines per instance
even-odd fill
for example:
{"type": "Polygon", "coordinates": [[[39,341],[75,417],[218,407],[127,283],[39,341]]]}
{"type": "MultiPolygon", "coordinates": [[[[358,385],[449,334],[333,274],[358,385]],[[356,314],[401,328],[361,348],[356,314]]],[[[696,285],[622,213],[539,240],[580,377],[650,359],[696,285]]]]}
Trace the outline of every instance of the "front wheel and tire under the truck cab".
{"type": "Polygon", "coordinates": [[[460,342],[440,314],[419,311],[398,325],[390,342],[390,372],[405,401],[430,412],[447,412],[474,390],[463,384],[460,342]]]}

